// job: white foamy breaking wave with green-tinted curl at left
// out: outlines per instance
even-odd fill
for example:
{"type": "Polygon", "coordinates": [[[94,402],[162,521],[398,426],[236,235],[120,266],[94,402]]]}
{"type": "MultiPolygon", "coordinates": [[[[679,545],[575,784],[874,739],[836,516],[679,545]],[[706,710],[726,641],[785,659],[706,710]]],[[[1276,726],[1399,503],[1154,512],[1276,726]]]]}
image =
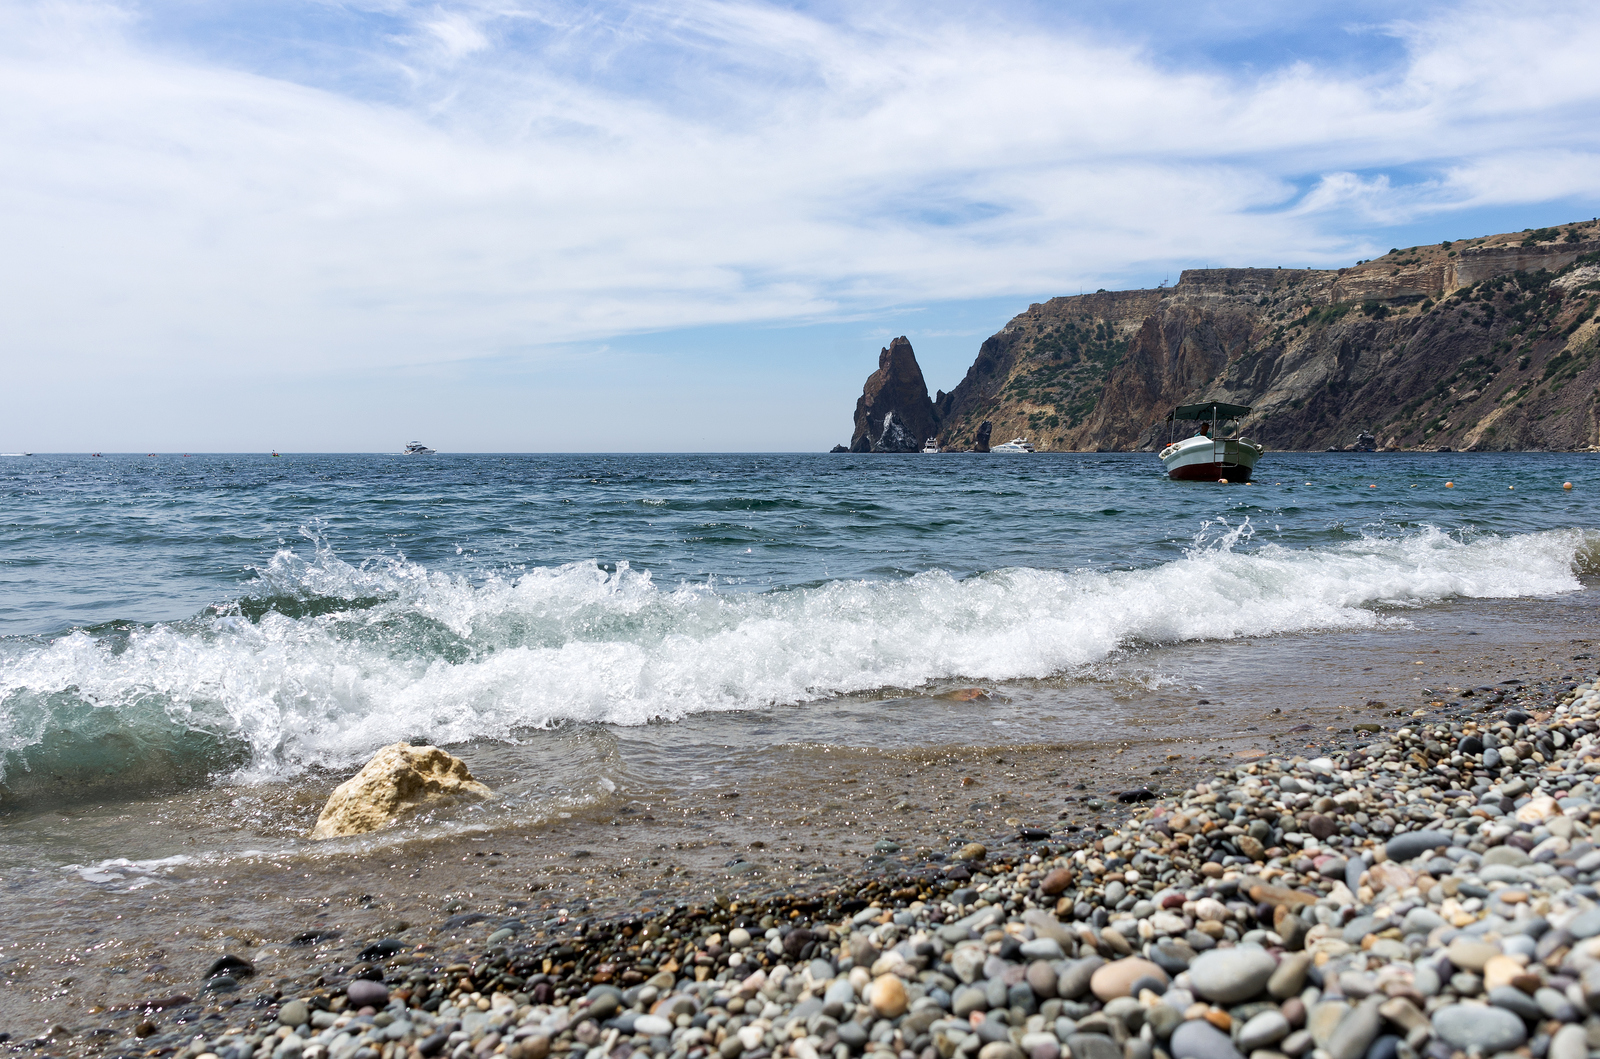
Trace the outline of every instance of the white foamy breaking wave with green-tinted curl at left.
{"type": "Polygon", "coordinates": [[[1600,534],[1424,528],[1318,549],[1211,525],[1125,571],[942,571],[762,593],[627,563],[469,581],[318,542],[181,622],[0,645],[0,798],[342,769],[397,739],[515,739],[878,688],[1070,673],[1133,645],[1394,621],[1450,598],[1579,589],[1600,534]]]}

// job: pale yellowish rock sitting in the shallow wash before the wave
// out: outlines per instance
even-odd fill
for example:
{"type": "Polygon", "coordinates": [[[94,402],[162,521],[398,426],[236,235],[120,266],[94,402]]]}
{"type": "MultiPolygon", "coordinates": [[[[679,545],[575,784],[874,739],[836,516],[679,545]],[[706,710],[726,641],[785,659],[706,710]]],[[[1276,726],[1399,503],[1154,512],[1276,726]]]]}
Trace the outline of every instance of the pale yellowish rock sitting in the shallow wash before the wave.
{"type": "Polygon", "coordinates": [[[312,838],[365,835],[416,809],[461,798],[488,798],[467,763],[438,747],[395,742],[373,755],[360,773],[334,787],[312,838]]]}

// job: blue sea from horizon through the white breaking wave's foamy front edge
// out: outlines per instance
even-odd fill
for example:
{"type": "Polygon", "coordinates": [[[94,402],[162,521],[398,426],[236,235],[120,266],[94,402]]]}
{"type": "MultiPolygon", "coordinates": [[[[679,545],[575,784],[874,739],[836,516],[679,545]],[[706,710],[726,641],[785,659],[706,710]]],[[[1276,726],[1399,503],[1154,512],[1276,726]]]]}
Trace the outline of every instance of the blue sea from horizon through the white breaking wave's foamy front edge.
{"type": "Polygon", "coordinates": [[[779,718],[782,742],[891,691],[1558,598],[1600,569],[1597,469],[1274,453],[1251,485],[1198,485],[1142,454],[5,458],[0,800],[715,713],[779,718]]]}

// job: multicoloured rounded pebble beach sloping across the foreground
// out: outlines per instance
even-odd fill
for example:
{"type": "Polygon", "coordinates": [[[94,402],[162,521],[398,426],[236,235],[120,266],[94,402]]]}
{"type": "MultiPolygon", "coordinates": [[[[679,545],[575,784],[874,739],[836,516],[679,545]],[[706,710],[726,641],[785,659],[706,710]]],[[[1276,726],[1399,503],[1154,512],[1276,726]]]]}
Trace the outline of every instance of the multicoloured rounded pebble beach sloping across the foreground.
{"type": "Polygon", "coordinates": [[[1600,1048],[1600,691],[1590,677],[1461,694],[1323,757],[1262,755],[1173,797],[1123,790],[1099,827],[952,841],[814,893],[605,918],[458,912],[346,939],[299,982],[224,955],[194,995],[8,1046],[1584,1059],[1600,1048]]]}

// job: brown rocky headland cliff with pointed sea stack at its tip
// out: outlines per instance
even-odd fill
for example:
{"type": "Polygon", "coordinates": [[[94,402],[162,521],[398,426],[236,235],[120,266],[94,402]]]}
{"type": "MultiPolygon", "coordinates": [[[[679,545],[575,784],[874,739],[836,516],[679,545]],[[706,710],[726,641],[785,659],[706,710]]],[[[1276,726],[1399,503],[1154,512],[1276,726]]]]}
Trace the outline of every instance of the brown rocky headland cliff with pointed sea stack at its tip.
{"type": "MultiPolygon", "coordinates": [[[[928,434],[970,450],[987,421],[1040,451],[1150,450],[1174,405],[1224,400],[1254,410],[1242,429],[1269,448],[1342,446],[1362,430],[1384,448],[1595,448],[1597,302],[1592,221],[1349,269],[1192,269],[1171,288],[1029,306],[933,400],[928,434]]],[[[891,350],[853,451],[906,451],[869,440],[885,392],[907,418],[926,400],[910,344],[909,366],[891,350]]]]}

